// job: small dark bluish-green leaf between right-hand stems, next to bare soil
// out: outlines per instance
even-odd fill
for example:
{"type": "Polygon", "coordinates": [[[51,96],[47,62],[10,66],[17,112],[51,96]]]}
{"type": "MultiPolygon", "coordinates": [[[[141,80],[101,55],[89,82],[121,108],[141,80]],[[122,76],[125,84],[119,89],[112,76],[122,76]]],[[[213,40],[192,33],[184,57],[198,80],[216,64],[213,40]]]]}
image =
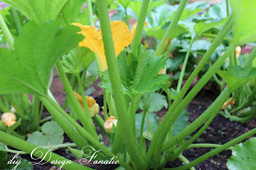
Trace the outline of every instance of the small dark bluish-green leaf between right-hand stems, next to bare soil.
{"type": "Polygon", "coordinates": [[[181,132],[185,127],[188,125],[188,120],[190,117],[190,113],[185,109],[182,111],[180,115],[176,118],[176,122],[173,125],[172,128],[172,135],[176,135],[179,132],[181,132]]]}

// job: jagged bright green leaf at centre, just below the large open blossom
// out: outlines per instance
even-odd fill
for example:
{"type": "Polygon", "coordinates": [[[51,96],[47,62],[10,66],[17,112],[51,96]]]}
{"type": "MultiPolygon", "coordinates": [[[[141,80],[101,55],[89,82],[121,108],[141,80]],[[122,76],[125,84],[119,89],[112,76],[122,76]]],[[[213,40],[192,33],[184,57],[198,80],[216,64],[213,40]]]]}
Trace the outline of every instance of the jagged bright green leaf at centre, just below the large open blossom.
{"type": "MultiPolygon", "coordinates": [[[[137,56],[123,52],[117,57],[125,95],[137,95],[155,92],[160,88],[168,75],[158,75],[166,65],[165,56],[153,56],[142,45],[137,56]]],[[[112,92],[108,71],[102,75],[101,88],[112,92]]]]}

